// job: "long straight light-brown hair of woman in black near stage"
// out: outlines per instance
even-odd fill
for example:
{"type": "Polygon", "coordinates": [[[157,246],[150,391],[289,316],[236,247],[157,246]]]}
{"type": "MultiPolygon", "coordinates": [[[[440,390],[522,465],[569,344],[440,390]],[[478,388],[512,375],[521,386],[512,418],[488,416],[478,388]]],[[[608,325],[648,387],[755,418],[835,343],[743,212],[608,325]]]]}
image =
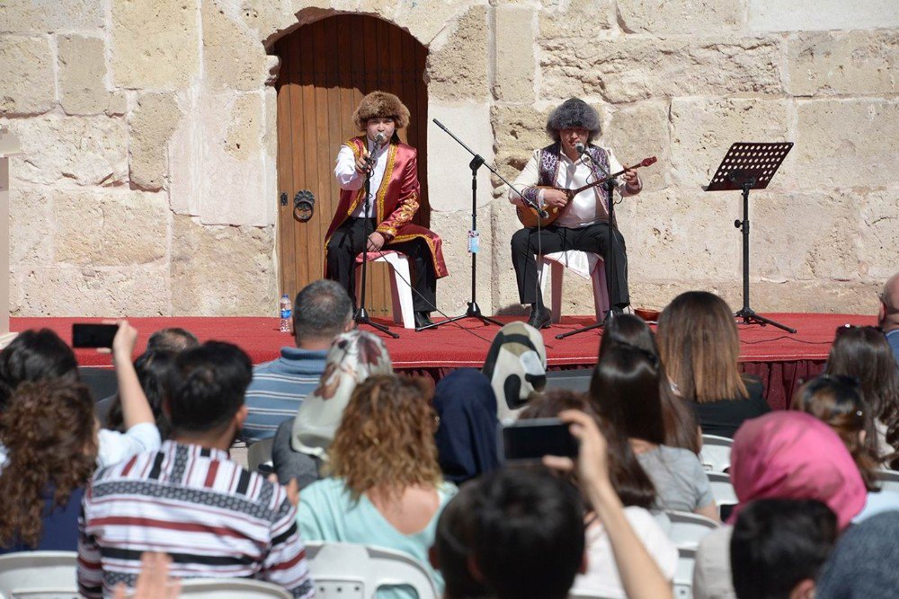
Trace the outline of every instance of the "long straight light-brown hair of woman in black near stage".
{"type": "Polygon", "coordinates": [[[749,397],[737,363],[740,337],[725,301],[708,291],[678,295],[659,317],[656,331],[665,372],[685,400],[749,397]]]}

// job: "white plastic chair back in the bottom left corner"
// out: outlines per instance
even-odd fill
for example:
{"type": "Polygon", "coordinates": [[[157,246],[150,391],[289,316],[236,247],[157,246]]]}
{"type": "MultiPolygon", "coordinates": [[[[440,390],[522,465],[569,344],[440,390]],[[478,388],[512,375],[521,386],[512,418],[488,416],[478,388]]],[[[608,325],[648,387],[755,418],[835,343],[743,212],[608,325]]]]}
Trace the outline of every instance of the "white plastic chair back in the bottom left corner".
{"type": "Polygon", "coordinates": [[[76,599],[75,551],[22,551],[0,556],[0,597],[76,599]]]}

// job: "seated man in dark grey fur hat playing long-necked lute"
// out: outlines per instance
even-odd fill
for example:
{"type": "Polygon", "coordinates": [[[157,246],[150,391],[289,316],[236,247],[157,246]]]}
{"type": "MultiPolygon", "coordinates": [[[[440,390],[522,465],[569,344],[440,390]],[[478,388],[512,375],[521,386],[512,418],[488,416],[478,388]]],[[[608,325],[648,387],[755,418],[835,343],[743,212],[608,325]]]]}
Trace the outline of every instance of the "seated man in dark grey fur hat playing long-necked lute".
{"type": "MultiPolygon", "coordinates": [[[[512,235],[512,265],[519,298],[521,304],[531,304],[528,323],[538,329],[549,326],[550,315],[539,293],[534,255],[538,251],[549,254],[581,250],[605,256],[610,226],[604,186],[583,189],[570,199],[563,190],[583,188],[598,178],[624,170],[610,148],[591,143],[599,134],[600,117],[596,110],[578,98],[566,100],[547,119],[547,135],[553,143],[536,150],[514,182],[514,187],[530,202],[557,214],[551,224],[541,229],[525,227],[512,235]],[[578,152],[579,144],[584,146],[584,156],[578,152]]],[[[622,196],[633,196],[643,189],[633,170],[624,172],[615,184],[622,196]]],[[[520,212],[529,209],[512,189],[509,200],[519,206],[520,212]]],[[[630,303],[628,255],[624,237],[617,229],[611,251],[613,264],[606,265],[606,269],[611,269],[609,299],[612,310],[621,312],[630,303]]]]}

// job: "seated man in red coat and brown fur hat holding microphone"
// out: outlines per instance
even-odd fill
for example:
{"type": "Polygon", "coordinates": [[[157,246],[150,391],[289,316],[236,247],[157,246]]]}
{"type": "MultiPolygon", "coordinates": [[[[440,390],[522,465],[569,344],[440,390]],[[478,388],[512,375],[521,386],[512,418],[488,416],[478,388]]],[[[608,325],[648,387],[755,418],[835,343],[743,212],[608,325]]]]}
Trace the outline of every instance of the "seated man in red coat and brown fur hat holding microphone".
{"type": "Polygon", "coordinates": [[[432,324],[437,279],[447,276],[441,238],[414,225],[418,212],[418,152],[403,144],[396,129],[409,124],[409,110],[394,94],[371,92],[352,115],[363,135],[352,137],[337,154],[334,176],[340,202],[325,234],[325,277],[356,297],[356,256],[382,248],[404,253],[413,264],[415,326],[432,324]],[[365,178],[371,173],[369,212],[364,213],[365,178]],[[368,222],[366,222],[368,221],[368,222]],[[366,228],[370,232],[365,236],[366,228]]]}

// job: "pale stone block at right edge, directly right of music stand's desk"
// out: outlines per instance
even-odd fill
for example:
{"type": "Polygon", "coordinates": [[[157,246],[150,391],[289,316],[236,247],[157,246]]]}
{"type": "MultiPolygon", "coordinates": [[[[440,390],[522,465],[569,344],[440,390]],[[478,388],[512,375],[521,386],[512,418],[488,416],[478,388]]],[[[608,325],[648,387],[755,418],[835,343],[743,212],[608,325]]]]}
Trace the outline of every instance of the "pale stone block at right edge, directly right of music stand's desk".
{"type": "MultiPolygon", "coordinates": [[[[899,172],[899,101],[797,101],[788,181],[801,189],[878,187],[899,172]]],[[[789,156],[788,156],[789,159],[789,156]]]]}

